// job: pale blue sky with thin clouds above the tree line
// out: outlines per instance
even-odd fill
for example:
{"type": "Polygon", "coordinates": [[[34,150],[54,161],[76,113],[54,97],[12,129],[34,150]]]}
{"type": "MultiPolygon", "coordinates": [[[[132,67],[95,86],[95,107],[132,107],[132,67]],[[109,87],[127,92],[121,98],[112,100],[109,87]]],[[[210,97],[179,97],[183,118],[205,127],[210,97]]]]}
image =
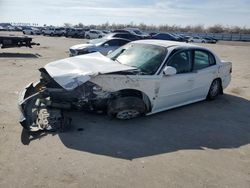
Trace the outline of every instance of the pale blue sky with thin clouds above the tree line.
{"type": "Polygon", "coordinates": [[[250,27],[250,0],[0,0],[0,22],[250,27]]]}

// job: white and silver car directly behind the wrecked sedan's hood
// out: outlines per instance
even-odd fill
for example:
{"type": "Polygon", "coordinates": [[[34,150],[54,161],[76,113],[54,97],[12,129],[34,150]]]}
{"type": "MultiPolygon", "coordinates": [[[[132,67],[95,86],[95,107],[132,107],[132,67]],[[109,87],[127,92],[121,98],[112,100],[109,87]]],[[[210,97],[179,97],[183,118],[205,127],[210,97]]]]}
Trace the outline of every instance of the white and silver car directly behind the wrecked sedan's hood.
{"type": "Polygon", "coordinates": [[[83,55],[93,52],[100,52],[103,55],[107,55],[108,52],[114,51],[117,48],[131,42],[128,39],[121,38],[101,38],[90,40],[86,44],[78,44],[70,47],[70,56],[83,55]]]}

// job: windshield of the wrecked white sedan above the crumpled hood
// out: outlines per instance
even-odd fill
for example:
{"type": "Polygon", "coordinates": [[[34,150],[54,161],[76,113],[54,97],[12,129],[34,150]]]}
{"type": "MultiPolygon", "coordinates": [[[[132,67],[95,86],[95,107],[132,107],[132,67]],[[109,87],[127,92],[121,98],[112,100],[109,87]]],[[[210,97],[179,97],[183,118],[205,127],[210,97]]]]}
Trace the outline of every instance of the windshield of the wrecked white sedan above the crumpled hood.
{"type": "Polygon", "coordinates": [[[123,65],[135,67],[145,74],[155,74],[167,54],[167,49],[151,44],[127,44],[108,57],[123,65]]]}

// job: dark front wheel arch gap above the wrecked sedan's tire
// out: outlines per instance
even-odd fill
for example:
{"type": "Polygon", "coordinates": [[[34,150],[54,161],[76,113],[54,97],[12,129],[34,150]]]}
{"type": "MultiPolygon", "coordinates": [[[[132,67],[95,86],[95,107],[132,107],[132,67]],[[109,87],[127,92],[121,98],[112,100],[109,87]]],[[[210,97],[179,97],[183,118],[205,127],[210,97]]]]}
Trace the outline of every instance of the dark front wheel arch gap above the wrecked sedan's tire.
{"type": "Polygon", "coordinates": [[[148,95],[142,91],[139,91],[136,89],[123,89],[123,90],[116,91],[113,94],[114,94],[113,99],[117,99],[119,97],[137,97],[139,99],[142,99],[142,101],[145,103],[147,107],[147,112],[150,112],[152,109],[152,105],[151,105],[148,95]]]}

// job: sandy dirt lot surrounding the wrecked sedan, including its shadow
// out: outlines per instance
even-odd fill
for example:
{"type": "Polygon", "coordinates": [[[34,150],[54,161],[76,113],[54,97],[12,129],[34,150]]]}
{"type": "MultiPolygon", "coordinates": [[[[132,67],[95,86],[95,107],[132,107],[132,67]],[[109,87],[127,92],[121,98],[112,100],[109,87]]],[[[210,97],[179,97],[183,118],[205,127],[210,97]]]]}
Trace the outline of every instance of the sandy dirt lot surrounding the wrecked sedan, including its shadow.
{"type": "Polygon", "coordinates": [[[206,45],[233,62],[218,100],[125,122],[72,113],[69,132],[29,135],[18,92],[84,42],[34,41],[41,46],[0,49],[0,187],[250,187],[250,43],[206,45]]]}

